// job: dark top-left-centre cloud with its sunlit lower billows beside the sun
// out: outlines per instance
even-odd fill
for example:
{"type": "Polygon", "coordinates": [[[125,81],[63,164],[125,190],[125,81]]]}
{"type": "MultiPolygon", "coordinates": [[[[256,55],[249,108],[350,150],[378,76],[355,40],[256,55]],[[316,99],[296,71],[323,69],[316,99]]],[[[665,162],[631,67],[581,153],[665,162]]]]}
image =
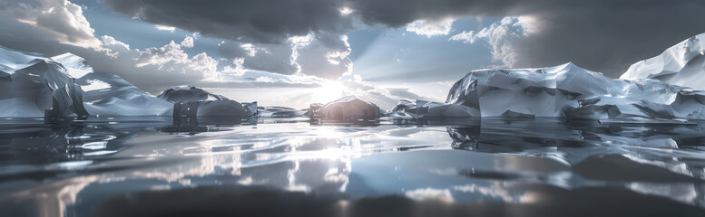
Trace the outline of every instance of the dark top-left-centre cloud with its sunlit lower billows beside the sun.
{"type": "Polygon", "coordinates": [[[354,11],[342,0],[105,0],[103,5],[164,30],[173,26],[225,39],[219,53],[238,59],[244,69],[331,80],[352,70],[345,33],[353,30],[349,14],[354,11]]]}

